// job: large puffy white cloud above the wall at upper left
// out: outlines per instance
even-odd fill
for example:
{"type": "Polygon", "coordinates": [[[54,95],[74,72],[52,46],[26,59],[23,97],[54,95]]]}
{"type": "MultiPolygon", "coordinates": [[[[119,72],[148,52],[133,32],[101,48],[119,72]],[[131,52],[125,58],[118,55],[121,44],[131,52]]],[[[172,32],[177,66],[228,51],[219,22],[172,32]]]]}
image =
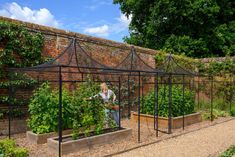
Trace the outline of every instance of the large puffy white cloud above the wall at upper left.
{"type": "Polygon", "coordinates": [[[37,23],[46,26],[59,27],[59,22],[46,8],[32,10],[28,7],[21,7],[17,3],[6,4],[0,9],[0,16],[18,19],[22,21],[37,23]]]}

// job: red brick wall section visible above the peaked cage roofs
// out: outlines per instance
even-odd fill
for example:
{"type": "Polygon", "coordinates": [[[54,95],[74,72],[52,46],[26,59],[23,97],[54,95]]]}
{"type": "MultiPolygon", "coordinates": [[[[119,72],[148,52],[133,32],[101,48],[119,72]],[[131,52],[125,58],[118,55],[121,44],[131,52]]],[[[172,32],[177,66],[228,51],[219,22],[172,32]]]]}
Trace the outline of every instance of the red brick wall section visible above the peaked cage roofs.
{"type": "MultiPolygon", "coordinates": [[[[44,56],[56,57],[68,46],[69,39],[73,37],[77,38],[81,45],[89,47],[89,55],[91,55],[95,60],[108,66],[115,66],[118,64],[122,59],[125,58],[131,49],[131,45],[128,44],[22,22],[1,16],[0,21],[9,21],[22,24],[32,32],[43,33],[45,37],[45,44],[43,49],[44,56]]],[[[141,58],[145,62],[147,62],[150,66],[155,67],[153,55],[156,54],[157,51],[141,47],[135,48],[137,53],[140,54],[141,58]]]]}

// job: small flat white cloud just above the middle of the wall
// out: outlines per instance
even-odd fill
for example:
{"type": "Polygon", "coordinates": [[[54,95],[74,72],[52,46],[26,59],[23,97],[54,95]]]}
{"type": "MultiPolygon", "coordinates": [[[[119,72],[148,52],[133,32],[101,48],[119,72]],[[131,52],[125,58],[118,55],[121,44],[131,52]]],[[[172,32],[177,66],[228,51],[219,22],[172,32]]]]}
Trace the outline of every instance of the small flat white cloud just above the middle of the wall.
{"type": "Polygon", "coordinates": [[[99,26],[99,27],[90,27],[90,28],[86,28],[84,30],[84,32],[88,33],[88,34],[94,34],[97,36],[108,36],[109,26],[103,25],[103,26],[99,26]]]}

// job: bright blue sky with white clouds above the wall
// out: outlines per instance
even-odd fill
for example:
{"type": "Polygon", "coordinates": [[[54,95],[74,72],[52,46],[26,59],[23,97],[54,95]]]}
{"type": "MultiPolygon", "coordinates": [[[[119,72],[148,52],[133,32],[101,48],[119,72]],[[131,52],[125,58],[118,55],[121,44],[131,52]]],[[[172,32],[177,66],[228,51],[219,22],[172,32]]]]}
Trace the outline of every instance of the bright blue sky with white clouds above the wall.
{"type": "Polygon", "coordinates": [[[127,18],[113,0],[0,0],[0,16],[123,42],[127,18]]]}

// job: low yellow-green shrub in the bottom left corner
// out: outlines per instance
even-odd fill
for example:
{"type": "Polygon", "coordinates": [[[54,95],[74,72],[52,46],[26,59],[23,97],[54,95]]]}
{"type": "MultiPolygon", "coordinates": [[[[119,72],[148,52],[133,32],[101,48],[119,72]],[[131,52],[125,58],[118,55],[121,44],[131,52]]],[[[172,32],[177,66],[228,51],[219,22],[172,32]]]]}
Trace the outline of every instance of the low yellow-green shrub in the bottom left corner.
{"type": "Polygon", "coordinates": [[[14,140],[3,139],[0,140],[0,155],[1,151],[4,157],[27,157],[28,150],[16,146],[14,140]]]}

